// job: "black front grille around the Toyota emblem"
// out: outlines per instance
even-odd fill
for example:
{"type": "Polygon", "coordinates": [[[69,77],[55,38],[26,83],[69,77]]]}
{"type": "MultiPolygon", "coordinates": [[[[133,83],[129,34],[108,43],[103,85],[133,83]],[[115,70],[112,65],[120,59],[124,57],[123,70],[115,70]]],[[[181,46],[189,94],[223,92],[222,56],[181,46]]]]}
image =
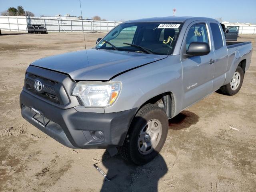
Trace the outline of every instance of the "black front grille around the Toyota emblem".
{"type": "Polygon", "coordinates": [[[59,95],[60,86],[61,85],[58,82],[55,82],[34,74],[30,74],[30,73],[26,74],[26,78],[25,78],[26,90],[56,104],[63,104],[61,101],[61,97],[59,95]],[[41,92],[38,92],[34,87],[34,83],[36,80],[40,80],[43,84],[41,92]]]}

